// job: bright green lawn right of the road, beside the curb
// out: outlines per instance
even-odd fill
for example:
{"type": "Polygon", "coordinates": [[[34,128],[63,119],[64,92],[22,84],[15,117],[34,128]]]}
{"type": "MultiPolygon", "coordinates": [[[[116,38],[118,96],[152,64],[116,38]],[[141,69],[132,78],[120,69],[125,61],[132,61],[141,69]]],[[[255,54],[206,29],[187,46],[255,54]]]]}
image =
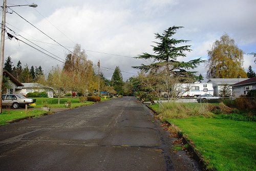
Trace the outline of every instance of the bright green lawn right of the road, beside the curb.
{"type": "MultiPolygon", "coordinates": [[[[150,107],[160,113],[157,104],[150,107]]],[[[194,142],[208,168],[256,170],[256,123],[238,121],[231,116],[234,115],[188,116],[186,119],[165,116],[163,119],[177,125],[183,135],[194,142]]]]}

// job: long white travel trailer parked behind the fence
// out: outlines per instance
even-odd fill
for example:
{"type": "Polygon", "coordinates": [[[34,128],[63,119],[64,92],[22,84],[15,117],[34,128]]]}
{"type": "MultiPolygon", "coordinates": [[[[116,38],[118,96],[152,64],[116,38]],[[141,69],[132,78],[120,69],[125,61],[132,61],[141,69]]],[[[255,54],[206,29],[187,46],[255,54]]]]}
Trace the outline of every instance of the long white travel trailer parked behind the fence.
{"type": "Polygon", "coordinates": [[[198,97],[204,94],[214,95],[212,83],[177,83],[174,90],[178,97],[198,97]]]}

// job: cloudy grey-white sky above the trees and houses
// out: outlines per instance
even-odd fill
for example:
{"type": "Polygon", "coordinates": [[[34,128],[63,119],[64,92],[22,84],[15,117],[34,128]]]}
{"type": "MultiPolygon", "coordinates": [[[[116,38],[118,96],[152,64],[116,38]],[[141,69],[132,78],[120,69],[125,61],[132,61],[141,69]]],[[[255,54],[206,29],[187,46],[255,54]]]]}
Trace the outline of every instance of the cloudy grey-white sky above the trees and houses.
{"type": "MultiPolygon", "coordinates": [[[[48,73],[52,67],[62,67],[66,54],[79,44],[96,72],[100,60],[105,77],[111,79],[118,66],[125,81],[137,74],[132,66],[150,62],[133,57],[153,53],[151,45],[158,41],[154,33],[182,26],[174,38],[190,40],[187,45],[193,51],[179,61],[207,59],[207,50],[227,33],[245,52],[245,71],[251,65],[256,72],[254,59],[248,55],[256,52],[255,0],[7,0],[7,6],[32,3],[38,7],[8,9],[6,30],[37,49],[49,51],[51,54],[45,53],[51,57],[6,36],[4,62],[10,56],[14,66],[20,60],[23,67],[41,66],[48,73]]],[[[196,71],[205,76],[204,63],[196,71]]]]}

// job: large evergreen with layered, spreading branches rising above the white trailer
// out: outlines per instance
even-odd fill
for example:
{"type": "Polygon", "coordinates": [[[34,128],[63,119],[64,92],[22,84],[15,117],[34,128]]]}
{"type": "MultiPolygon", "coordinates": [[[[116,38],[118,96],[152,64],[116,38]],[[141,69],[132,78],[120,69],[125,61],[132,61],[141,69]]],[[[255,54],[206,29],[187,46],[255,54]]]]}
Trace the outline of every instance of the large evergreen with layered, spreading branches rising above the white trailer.
{"type": "Polygon", "coordinates": [[[142,64],[140,67],[133,68],[140,69],[145,72],[156,72],[165,67],[166,74],[170,76],[179,75],[180,81],[183,82],[187,75],[190,75],[190,77],[195,77],[194,74],[196,72],[189,72],[186,70],[197,68],[197,65],[203,62],[203,60],[201,60],[201,58],[190,60],[188,62],[177,60],[178,57],[185,57],[185,52],[191,51],[191,49],[189,49],[191,45],[184,45],[180,47],[177,46],[178,44],[184,44],[189,40],[179,40],[172,37],[176,33],[176,30],[180,28],[183,27],[173,26],[164,30],[162,35],[156,33],[155,37],[159,39],[160,42],[154,41],[156,46],[152,46],[155,55],[143,53],[142,55],[136,57],[139,59],[151,59],[154,61],[154,63],[151,63],[150,65],[142,64]]]}

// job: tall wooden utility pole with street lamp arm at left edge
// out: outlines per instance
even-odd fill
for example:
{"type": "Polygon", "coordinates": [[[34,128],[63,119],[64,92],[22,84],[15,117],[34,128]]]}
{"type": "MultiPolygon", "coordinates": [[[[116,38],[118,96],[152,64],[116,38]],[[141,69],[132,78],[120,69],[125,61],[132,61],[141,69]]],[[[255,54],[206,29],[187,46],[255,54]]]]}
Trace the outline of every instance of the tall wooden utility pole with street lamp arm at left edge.
{"type": "MultiPolygon", "coordinates": [[[[6,6],[6,1],[3,0],[3,16],[2,16],[2,30],[1,30],[1,51],[0,51],[0,97],[2,98],[2,88],[3,88],[3,72],[4,72],[4,50],[5,50],[5,21],[6,21],[6,8],[7,7],[20,7],[20,6],[29,6],[36,8],[36,4],[28,5],[15,5],[15,6],[6,6]]],[[[2,100],[0,100],[0,113],[2,113],[2,100]]]]}

